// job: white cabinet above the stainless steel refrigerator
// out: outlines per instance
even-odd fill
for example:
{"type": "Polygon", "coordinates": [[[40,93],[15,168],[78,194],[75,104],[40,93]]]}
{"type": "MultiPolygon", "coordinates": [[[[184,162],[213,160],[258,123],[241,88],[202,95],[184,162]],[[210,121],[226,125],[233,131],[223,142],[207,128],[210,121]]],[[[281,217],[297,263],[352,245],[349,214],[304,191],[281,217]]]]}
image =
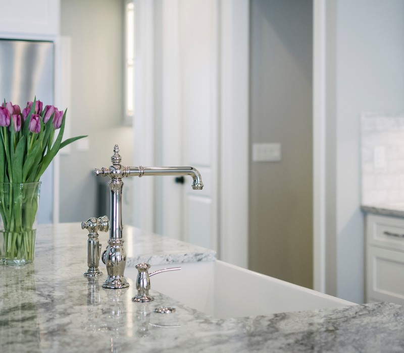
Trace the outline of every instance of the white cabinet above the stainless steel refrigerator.
{"type": "Polygon", "coordinates": [[[60,0],[0,0],[0,37],[53,39],[60,32],[60,0]]]}

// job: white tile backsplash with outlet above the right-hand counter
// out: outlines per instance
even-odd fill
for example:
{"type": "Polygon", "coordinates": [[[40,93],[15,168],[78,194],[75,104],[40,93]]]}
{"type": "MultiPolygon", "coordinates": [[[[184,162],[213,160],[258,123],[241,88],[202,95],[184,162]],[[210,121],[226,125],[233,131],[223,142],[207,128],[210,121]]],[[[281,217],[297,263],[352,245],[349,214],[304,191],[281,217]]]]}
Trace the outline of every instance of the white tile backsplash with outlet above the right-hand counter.
{"type": "Polygon", "coordinates": [[[404,114],[361,117],[362,204],[404,202],[404,114]]]}

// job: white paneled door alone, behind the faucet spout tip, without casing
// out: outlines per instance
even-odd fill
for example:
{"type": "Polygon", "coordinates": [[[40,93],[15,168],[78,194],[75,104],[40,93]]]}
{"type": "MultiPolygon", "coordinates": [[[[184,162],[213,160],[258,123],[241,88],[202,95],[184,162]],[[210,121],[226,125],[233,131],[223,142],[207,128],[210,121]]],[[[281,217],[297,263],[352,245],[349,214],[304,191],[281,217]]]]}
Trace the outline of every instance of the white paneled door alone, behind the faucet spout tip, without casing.
{"type": "Polygon", "coordinates": [[[181,110],[184,163],[196,167],[203,190],[185,188],[184,240],[218,250],[218,2],[180,5],[181,110]]]}

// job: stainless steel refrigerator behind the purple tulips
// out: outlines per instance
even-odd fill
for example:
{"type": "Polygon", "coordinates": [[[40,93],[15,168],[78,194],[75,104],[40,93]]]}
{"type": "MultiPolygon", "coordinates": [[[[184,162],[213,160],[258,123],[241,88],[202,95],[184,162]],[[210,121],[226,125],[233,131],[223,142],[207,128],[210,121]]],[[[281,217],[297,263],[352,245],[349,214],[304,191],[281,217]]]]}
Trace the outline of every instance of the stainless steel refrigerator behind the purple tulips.
{"type": "MultiPolygon", "coordinates": [[[[0,40],[0,99],[21,110],[36,96],[54,104],[55,49],[52,42],[0,40]]],[[[64,109],[63,107],[59,107],[64,109]]],[[[53,165],[41,177],[38,222],[53,221],[53,165]]]]}

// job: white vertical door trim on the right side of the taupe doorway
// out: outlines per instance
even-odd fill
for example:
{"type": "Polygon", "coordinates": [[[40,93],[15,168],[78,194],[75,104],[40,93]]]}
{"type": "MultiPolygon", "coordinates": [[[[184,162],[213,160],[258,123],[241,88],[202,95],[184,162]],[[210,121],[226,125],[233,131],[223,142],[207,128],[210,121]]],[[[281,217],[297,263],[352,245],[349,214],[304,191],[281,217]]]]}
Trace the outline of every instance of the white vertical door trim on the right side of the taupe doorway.
{"type": "MultiPolygon", "coordinates": [[[[320,292],[336,295],[335,259],[327,257],[326,229],[327,204],[333,203],[328,195],[327,185],[334,184],[333,176],[326,173],[327,154],[335,146],[326,145],[326,0],[313,0],[313,285],[320,292]],[[326,262],[326,259],[328,260],[326,262]]],[[[335,202],[334,202],[335,203],[335,202]]],[[[330,210],[332,212],[332,210],[330,210]]],[[[330,234],[330,244],[332,244],[330,234]]]]}

